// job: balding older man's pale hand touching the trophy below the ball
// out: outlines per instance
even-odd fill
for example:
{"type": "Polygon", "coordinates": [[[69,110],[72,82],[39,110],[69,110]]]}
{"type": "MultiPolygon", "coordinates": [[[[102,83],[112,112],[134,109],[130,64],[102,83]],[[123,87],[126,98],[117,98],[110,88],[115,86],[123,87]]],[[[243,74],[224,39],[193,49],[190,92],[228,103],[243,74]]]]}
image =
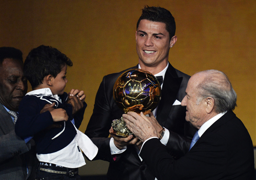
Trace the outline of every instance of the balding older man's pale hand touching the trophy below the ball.
{"type": "Polygon", "coordinates": [[[150,137],[158,137],[158,128],[154,126],[156,122],[153,118],[155,118],[153,114],[150,117],[146,117],[143,112],[140,115],[135,112],[123,114],[123,121],[126,126],[143,142],[150,137]]]}

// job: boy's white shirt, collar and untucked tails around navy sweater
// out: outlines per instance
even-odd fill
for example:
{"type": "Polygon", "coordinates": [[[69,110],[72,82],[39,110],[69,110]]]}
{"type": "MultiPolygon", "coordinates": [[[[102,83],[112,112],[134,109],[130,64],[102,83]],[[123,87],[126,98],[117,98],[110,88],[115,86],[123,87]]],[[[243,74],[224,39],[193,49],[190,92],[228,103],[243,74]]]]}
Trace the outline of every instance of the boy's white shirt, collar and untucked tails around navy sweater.
{"type": "MultiPolygon", "coordinates": [[[[61,102],[60,97],[58,95],[53,95],[50,88],[33,90],[28,92],[26,95],[50,96],[61,102]]],[[[37,154],[38,160],[64,167],[77,168],[86,164],[82,151],[89,160],[95,158],[98,152],[97,146],[95,146],[90,138],[88,138],[84,133],[79,131],[76,127],[75,129],[77,134],[68,146],[57,152],[49,154],[37,154]],[[80,149],[82,149],[82,151],[80,149]]]]}

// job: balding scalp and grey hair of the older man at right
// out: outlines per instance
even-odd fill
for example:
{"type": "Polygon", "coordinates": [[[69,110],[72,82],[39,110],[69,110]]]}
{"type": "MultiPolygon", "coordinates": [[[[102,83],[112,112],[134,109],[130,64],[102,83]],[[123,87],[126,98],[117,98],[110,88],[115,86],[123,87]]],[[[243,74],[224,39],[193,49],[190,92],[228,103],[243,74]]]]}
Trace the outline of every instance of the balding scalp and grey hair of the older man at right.
{"type": "Polygon", "coordinates": [[[228,77],[219,70],[205,70],[199,74],[207,74],[204,80],[197,86],[197,101],[211,97],[214,99],[214,110],[216,113],[234,110],[237,106],[237,94],[232,88],[228,77]]]}

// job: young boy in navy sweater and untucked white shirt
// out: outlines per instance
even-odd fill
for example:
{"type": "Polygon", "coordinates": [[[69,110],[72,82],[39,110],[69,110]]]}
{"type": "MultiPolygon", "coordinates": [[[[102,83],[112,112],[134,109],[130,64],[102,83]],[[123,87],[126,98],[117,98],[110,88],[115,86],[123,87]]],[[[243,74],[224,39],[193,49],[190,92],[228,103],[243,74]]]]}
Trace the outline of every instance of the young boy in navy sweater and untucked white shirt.
{"type": "Polygon", "coordinates": [[[72,65],[65,54],[44,45],[31,50],[24,63],[32,91],[20,102],[15,132],[36,141],[39,179],[80,179],[78,167],[86,164],[81,149],[90,160],[98,152],[77,130],[87,106],[84,91],[64,92],[67,66],[72,65]]]}

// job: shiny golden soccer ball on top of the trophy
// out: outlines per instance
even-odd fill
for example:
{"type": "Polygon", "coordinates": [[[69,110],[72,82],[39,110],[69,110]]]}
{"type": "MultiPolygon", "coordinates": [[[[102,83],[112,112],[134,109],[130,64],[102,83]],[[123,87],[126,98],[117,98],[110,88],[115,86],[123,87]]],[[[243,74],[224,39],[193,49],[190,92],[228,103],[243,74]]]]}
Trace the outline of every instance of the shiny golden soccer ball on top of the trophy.
{"type": "Polygon", "coordinates": [[[152,112],[161,99],[161,88],[157,78],[148,71],[131,69],[115,81],[113,97],[125,113],[152,112]]]}

